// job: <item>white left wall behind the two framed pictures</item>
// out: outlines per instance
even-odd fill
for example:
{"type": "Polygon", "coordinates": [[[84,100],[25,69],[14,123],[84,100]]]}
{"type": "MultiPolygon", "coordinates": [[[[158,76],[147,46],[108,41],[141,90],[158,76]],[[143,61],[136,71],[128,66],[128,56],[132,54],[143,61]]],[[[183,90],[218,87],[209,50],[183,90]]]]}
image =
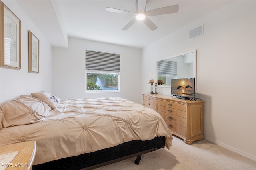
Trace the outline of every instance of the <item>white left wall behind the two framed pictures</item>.
{"type": "Polygon", "coordinates": [[[21,20],[21,69],[0,67],[0,103],[31,92],[52,91],[51,45],[16,1],[2,1],[21,20]],[[28,73],[28,30],[40,40],[39,73],[28,73]]]}

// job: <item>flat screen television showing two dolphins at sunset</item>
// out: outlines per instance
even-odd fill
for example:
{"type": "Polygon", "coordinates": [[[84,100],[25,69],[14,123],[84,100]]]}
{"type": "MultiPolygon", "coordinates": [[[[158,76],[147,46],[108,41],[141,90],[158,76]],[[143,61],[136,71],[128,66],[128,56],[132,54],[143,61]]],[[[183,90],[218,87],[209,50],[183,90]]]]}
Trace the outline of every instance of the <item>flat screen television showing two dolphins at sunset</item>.
{"type": "Polygon", "coordinates": [[[171,94],[180,99],[196,99],[195,78],[172,79],[171,94]]]}

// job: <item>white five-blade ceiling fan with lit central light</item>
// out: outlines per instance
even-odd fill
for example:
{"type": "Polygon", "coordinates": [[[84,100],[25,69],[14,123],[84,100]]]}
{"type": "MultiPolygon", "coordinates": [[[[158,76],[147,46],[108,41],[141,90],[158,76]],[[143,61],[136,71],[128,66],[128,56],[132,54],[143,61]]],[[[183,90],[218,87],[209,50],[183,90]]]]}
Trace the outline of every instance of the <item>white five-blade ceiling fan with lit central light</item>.
{"type": "Polygon", "coordinates": [[[148,16],[156,16],[156,15],[162,15],[162,14],[171,14],[176,13],[179,10],[179,5],[172,5],[172,6],[166,6],[163,8],[157,8],[154,10],[146,11],[146,3],[147,0],[136,0],[135,2],[135,12],[132,11],[126,11],[126,10],[120,10],[116,8],[109,8],[106,7],[106,11],[110,12],[116,12],[121,14],[136,14],[136,18],[133,18],[122,30],[128,30],[136,22],[136,20],[143,20],[143,22],[150,28],[150,30],[154,31],[157,29],[157,26],[148,19],[148,16]]]}

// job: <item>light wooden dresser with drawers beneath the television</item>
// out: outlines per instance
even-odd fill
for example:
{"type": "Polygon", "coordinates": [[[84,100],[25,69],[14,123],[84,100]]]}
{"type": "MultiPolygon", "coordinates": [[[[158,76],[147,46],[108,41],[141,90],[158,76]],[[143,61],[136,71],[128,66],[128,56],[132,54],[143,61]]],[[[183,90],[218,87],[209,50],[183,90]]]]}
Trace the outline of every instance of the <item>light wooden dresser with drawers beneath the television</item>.
{"type": "Polygon", "coordinates": [[[204,101],[177,99],[171,95],[142,94],[143,105],[157,111],[172,134],[187,144],[202,140],[204,101]]]}

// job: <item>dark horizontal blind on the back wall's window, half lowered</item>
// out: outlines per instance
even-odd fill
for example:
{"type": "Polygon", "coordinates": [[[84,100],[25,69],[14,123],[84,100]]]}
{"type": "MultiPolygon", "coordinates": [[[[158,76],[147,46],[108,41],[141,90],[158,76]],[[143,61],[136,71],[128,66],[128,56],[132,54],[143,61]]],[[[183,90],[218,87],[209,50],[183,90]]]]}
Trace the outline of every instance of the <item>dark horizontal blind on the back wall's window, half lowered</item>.
{"type": "Polygon", "coordinates": [[[120,72],[120,54],[100,51],[85,51],[86,71],[120,72]]]}

